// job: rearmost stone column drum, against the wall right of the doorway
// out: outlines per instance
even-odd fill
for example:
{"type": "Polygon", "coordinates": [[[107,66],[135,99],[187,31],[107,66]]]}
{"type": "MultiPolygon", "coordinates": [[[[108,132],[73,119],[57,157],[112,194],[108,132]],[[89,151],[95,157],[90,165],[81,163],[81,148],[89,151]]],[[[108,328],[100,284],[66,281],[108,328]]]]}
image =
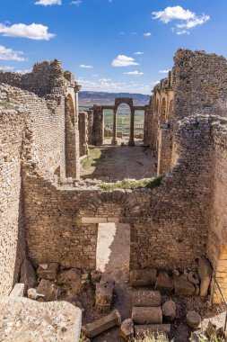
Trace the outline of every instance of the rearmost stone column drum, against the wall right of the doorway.
{"type": "Polygon", "coordinates": [[[144,268],[130,272],[131,286],[151,286],[155,284],[157,271],[155,268],[144,268]]]}

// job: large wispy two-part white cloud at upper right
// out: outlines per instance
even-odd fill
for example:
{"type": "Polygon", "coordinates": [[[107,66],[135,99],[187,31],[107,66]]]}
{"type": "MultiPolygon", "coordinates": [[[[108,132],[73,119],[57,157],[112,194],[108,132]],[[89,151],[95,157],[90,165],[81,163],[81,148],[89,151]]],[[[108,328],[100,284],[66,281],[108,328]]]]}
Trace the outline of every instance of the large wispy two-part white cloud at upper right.
{"type": "Polygon", "coordinates": [[[176,34],[189,34],[188,30],[206,23],[210,16],[206,14],[197,15],[190,10],[185,10],[181,6],[166,7],[163,11],[153,12],[153,19],[158,19],[162,23],[170,23],[172,20],[180,21],[172,31],[176,34]]]}

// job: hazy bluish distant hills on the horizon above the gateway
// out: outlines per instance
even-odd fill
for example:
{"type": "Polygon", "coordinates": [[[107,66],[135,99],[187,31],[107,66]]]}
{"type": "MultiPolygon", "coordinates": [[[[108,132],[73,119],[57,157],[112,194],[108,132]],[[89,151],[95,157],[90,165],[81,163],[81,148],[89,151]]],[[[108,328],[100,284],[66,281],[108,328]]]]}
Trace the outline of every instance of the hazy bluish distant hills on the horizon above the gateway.
{"type": "Polygon", "coordinates": [[[133,97],[135,105],[148,104],[150,95],[145,94],[129,94],[129,93],[103,93],[103,92],[80,92],[80,106],[91,106],[95,103],[114,104],[116,97],[133,97]]]}

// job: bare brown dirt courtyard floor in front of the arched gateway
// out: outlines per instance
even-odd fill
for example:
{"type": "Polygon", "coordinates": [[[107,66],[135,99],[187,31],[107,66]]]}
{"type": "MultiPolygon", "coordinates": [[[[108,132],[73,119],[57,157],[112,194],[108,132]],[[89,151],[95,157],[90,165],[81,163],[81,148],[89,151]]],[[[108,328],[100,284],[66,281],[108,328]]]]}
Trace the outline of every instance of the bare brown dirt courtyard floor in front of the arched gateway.
{"type": "Polygon", "coordinates": [[[118,139],[118,147],[110,145],[110,140],[100,148],[100,158],[94,159],[92,166],[81,171],[82,178],[100,179],[104,182],[116,182],[125,178],[142,179],[156,175],[154,163],[156,157],[150,148],[143,146],[141,140],[135,141],[135,147],[127,146],[127,139],[118,139]],[[121,142],[126,145],[120,146],[121,142]]]}

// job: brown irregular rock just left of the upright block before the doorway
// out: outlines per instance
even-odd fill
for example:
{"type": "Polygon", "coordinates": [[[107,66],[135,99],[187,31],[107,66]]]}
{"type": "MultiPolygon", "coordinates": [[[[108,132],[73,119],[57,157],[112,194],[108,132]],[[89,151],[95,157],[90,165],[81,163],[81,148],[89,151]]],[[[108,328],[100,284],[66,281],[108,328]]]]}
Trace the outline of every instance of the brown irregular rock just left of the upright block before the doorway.
{"type": "Polygon", "coordinates": [[[82,274],[78,268],[62,272],[57,277],[57,283],[69,285],[73,293],[77,294],[82,291],[82,274]]]}

